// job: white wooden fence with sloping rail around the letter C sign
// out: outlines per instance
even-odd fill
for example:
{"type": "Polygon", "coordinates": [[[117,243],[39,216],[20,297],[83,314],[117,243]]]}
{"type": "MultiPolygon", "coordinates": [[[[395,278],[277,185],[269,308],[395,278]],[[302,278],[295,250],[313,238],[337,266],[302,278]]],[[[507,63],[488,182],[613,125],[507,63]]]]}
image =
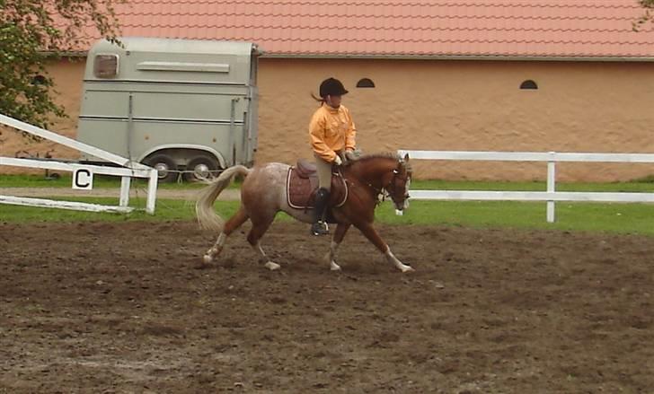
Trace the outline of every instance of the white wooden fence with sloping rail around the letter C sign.
{"type": "Polygon", "coordinates": [[[121,167],[109,167],[102,165],[82,164],[78,162],[62,162],[56,160],[34,160],[34,159],[21,159],[15,157],[2,157],[0,156],[0,166],[18,166],[28,168],[39,168],[58,171],[79,171],[84,170],[89,174],[102,174],[102,175],[115,175],[122,177],[120,182],[120,197],[119,206],[102,206],[98,204],[86,204],[72,201],[58,201],[49,200],[44,198],[28,198],[28,197],[13,197],[13,196],[0,196],[0,204],[13,204],[19,206],[42,206],[42,207],[56,207],[63,209],[75,209],[81,211],[91,212],[130,212],[133,208],[129,207],[129,185],[132,177],[146,178],[147,183],[147,200],[146,212],[148,214],[155,214],[155,201],[156,201],[156,186],[157,186],[157,171],[147,167],[138,162],[131,162],[130,160],[120,157],[119,155],[103,151],[94,146],[83,144],[74,139],[61,136],[44,128],[32,126],[20,120],[6,117],[0,114],[0,124],[9,127],[17,128],[29,133],[33,136],[40,136],[41,138],[49,139],[57,144],[66,145],[74,148],[80,152],[93,154],[108,162],[119,164],[121,167]]]}

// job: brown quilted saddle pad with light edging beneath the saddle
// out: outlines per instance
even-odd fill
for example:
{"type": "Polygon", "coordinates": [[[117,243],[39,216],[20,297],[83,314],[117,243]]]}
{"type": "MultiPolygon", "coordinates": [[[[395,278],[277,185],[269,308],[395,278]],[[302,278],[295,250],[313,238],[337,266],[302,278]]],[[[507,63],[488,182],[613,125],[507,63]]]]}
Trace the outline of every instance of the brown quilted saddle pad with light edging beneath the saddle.
{"type": "MultiPolygon", "coordinates": [[[[313,209],[315,190],[318,188],[318,177],[302,178],[297,174],[296,168],[288,169],[287,174],[287,203],[291,208],[313,209]]],[[[331,176],[330,206],[339,207],[348,200],[348,185],[340,175],[331,176]],[[333,203],[336,201],[337,203],[333,203]]]]}

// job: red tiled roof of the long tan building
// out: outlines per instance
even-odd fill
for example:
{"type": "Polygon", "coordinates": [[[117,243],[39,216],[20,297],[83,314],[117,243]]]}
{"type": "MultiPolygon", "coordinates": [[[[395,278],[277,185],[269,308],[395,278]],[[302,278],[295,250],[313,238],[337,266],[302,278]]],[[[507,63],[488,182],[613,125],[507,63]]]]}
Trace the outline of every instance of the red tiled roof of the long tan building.
{"type": "Polygon", "coordinates": [[[131,0],[118,11],[123,36],[247,40],[269,56],[654,58],[652,25],[632,31],[636,0],[131,0]]]}

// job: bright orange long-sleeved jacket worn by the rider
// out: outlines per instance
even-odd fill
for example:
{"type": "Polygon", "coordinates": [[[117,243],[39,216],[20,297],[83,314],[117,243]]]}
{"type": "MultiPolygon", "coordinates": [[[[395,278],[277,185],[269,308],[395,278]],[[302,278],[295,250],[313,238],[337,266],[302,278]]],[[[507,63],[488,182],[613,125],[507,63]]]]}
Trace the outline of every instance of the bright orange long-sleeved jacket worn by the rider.
{"type": "Polygon", "coordinates": [[[309,136],[314,152],[326,162],[333,162],[336,152],[355,148],[357,128],[349,115],[349,109],[342,105],[339,109],[333,109],[323,104],[311,118],[309,136]]]}

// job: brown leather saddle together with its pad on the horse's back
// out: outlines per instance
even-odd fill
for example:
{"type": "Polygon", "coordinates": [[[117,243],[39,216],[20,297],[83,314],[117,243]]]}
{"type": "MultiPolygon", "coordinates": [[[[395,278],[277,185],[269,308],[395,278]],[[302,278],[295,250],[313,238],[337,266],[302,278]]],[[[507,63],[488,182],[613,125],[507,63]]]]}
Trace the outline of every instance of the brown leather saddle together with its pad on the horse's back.
{"type": "MultiPolygon", "coordinates": [[[[313,162],[297,161],[296,167],[288,169],[287,203],[296,209],[313,209],[315,192],[318,190],[318,173],[313,162]]],[[[348,185],[339,172],[331,174],[329,207],[339,207],[348,199],[348,185]]],[[[329,215],[328,215],[329,216],[329,215]]]]}

